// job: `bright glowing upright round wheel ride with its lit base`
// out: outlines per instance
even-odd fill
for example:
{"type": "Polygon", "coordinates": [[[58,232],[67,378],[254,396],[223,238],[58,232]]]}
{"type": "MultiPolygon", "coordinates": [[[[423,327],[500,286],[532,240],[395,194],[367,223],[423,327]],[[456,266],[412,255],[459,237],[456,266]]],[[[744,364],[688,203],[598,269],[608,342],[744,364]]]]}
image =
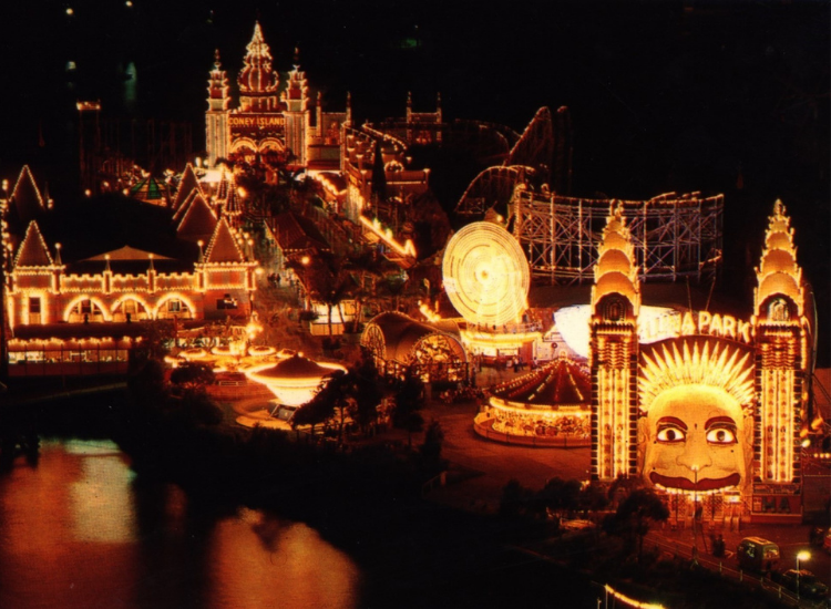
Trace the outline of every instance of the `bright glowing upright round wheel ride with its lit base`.
{"type": "Polygon", "coordinates": [[[485,361],[521,358],[541,336],[529,322],[531,273],[520,244],[501,225],[472,223],[448,242],[442,260],[444,290],[464,319],[465,348],[485,361]]]}

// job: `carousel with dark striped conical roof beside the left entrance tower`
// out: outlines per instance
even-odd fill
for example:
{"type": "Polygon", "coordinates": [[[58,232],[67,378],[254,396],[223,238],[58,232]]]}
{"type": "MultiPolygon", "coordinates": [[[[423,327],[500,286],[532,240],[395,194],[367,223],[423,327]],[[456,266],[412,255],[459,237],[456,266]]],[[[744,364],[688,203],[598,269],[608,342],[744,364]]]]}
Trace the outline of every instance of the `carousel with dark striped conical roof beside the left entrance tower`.
{"type": "Polygon", "coordinates": [[[473,429],[488,440],[546,447],[592,443],[588,367],[565,354],[491,390],[473,429]]]}

